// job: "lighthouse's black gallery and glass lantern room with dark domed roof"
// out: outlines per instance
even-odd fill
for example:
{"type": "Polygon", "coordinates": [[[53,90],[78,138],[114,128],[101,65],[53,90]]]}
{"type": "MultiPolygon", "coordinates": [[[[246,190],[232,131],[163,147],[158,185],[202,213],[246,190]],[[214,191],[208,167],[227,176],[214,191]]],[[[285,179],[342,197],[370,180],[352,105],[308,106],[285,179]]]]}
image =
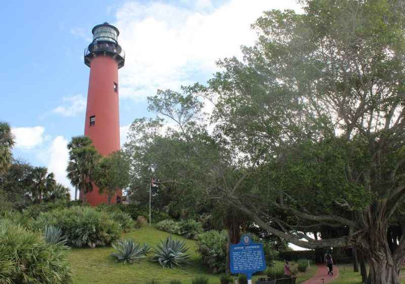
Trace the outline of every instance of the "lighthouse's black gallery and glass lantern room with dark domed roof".
{"type": "Polygon", "coordinates": [[[108,55],[117,61],[118,69],[123,67],[125,63],[125,52],[118,44],[118,29],[108,23],[104,23],[95,26],[92,33],[93,41],[85,49],[85,64],[90,67],[94,57],[108,55]]]}

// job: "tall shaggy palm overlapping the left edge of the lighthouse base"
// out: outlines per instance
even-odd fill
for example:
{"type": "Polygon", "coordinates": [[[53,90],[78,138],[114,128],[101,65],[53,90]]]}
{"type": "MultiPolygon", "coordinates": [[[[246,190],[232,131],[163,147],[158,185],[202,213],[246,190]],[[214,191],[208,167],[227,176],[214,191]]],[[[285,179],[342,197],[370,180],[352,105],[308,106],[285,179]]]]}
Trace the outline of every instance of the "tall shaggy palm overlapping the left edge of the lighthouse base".
{"type": "Polygon", "coordinates": [[[79,188],[84,205],[86,194],[93,191],[94,171],[100,154],[87,136],[73,137],[67,148],[69,149],[67,177],[73,186],[79,188]]]}

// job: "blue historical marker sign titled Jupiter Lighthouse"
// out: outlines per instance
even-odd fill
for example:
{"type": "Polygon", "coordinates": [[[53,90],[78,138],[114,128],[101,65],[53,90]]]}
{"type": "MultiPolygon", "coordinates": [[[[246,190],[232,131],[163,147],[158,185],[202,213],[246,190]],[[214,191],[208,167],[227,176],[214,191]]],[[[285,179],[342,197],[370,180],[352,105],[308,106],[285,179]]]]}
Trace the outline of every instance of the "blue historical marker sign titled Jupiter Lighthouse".
{"type": "Polygon", "coordinates": [[[240,243],[231,245],[229,250],[231,273],[246,274],[248,279],[257,271],[266,269],[263,244],[252,242],[250,235],[244,234],[240,243]]]}

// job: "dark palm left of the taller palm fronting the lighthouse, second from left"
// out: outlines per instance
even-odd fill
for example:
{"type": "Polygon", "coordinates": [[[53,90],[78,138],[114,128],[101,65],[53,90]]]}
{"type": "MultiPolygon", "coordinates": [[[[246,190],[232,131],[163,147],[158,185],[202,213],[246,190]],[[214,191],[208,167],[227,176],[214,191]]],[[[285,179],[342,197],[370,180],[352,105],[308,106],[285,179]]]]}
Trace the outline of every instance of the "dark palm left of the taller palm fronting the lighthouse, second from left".
{"type": "Polygon", "coordinates": [[[35,167],[31,173],[32,180],[32,197],[37,196],[39,203],[42,202],[43,196],[51,192],[56,185],[54,173],[48,173],[47,167],[35,167]]]}

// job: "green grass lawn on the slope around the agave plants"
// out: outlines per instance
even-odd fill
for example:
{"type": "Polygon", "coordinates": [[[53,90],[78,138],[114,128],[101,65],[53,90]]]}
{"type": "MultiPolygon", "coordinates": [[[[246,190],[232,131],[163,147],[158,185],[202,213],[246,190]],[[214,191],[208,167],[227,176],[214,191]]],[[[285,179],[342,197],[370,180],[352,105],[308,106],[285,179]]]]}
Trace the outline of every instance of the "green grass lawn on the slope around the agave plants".
{"type": "MultiPolygon", "coordinates": [[[[133,238],[138,243],[148,243],[150,246],[155,246],[160,240],[166,239],[167,236],[169,236],[169,233],[153,227],[143,227],[124,234],[124,238],[133,238]]],[[[188,251],[190,253],[190,265],[187,265],[185,269],[164,269],[159,263],[148,260],[152,254],[149,254],[148,258],[142,259],[138,263],[123,264],[116,263],[110,256],[115,251],[111,247],[72,249],[69,262],[74,271],[73,283],[144,284],[148,280],[156,279],[161,284],[167,284],[170,280],[178,279],[184,284],[190,284],[193,277],[206,276],[211,284],[219,284],[219,275],[210,274],[203,265],[199,254],[196,252],[195,241],[187,240],[181,236],[176,236],[176,238],[184,240],[190,248],[188,251]]],[[[276,265],[282,265],[282,263],[277,262],[276,265]]],[[[308,279],[314,272],[315,266],[312,266],[307,274],[299,275],[297,283],[308,279]]],[[[263,276],[256,275],[254,278],[258,277],[263,276]]]]}

